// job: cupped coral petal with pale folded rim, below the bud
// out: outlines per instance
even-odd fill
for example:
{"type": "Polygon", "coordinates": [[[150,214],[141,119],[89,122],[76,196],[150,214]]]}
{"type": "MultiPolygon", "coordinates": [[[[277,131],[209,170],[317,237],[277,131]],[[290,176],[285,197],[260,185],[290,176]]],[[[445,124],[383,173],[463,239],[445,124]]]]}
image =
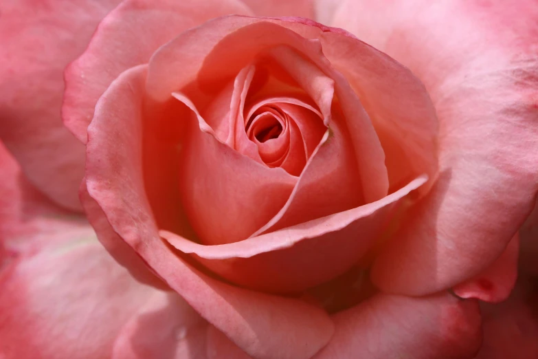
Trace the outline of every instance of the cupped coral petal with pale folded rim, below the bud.
{"type": "Polygon", "coordinates": [[[220,246],[160,234],[229,281],[256,290],[298,292],[355,265],[386,229],[403,197],[425,182],[421,177],[378,202],[220,246]]]}

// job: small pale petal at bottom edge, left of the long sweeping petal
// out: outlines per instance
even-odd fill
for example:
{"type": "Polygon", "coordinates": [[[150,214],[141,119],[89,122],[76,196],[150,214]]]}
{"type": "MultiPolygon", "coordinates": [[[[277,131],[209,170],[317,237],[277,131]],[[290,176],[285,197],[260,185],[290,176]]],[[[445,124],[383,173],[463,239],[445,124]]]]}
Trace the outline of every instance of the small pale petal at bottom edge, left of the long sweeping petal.
{"type": "Polygon", "coordinates": [[[117,336],[112,359],[206,359],[208,322],[175,292],[155,292],[117,336]]]}

